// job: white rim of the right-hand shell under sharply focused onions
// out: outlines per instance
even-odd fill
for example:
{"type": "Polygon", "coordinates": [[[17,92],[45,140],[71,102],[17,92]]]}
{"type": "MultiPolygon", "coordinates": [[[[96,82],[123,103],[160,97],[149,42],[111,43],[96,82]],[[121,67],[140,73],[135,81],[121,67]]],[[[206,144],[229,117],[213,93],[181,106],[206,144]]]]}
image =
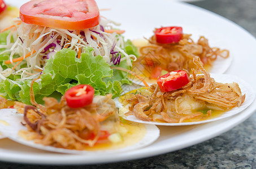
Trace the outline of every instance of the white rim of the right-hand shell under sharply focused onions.
{"type": "Polygon", "coordinates": [[[229,74],[211,74],[211,78],[214,78],[216,82],[222,82],[222,83],[236,82],[236,83],[238,83],[239,87],[241,88],[242,95],[245,95],[244,103],[242,103],[242,105],[240,107],[236,107],[236,108],[229,110],[228,112],[225,112],[224,114],[220,115],[220,117],[207,119],[205,121],[184,122],[184,123],[160,123],[160,122],[153,122],[153,121],[142,121],[141,119],[137,119],[134,115],[125,116],[124,113],[127,113],[129,111],[129,109],[123,108],[122,104],[118,101],[118,98],[116,98],[114,100],[115,100],[116,106],[118,108],[121,108],[121,109],[119,109],[119,112],[121,110],[120,113],[124,119],[127,119],[132,122],[137,122],[137,123],[155,124],[158,126],[188,126],[188,125],[218,121],[220,119],[231,117],[232,115],[236,115],[236,114],[242,112],[242,110],[245,110],[246,108],[248,108],[248,106],[251,105],[251,103],[253,103],[253,101],[255,99],[255,91],[253,90],[253,87],[250,86],[250,84],[246,83],[242,79],[235,77],[234,75],[229,75],[229,74]]]}

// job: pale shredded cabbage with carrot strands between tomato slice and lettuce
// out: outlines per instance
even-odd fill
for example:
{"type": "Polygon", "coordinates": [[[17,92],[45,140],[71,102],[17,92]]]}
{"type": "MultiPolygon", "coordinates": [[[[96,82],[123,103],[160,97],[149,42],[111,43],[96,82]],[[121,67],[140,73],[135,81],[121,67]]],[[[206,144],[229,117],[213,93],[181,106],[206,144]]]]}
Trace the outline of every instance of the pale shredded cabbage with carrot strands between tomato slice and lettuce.
{"type": "MultiPolygon", "coordinates": [[[[109,65],[120,64],[120,61],[126,60],[127,66],[132,66],[132,61],[137,59],[136,56],[128,55],[123,50],[125,42],[122,35],[105,32],[107,29],[113,29],[112,24],[118,25],[105,17],[101,18],[98,26],[84,30],[66,30],[26,24],[18,18],[14,20],[14,23],[16,30],[12,30],[7,35],[6,45],[0,45],[0,48],[5,48],[4,51],[0,51],[0,55],[10,53],[9,60],[15,65],[16,63],[13,63],[15,55],[25,56],[33,50],[36,51],[12,70],[12,74],[20,75],[21,81],[33,79],[34,75],[38,77],[44,70],[47,59],[54,57],[54,54],[62,48],[70,48],[78,54],[79,48],[83,53],[86,47],[92,47],[93,55],[101,55],[109,65]],[[54,48],[45,51],[50,45],[54,48]]],[[[0,72],[0,77],[8,77],[8,75],[6,70],[0,72]]]]}

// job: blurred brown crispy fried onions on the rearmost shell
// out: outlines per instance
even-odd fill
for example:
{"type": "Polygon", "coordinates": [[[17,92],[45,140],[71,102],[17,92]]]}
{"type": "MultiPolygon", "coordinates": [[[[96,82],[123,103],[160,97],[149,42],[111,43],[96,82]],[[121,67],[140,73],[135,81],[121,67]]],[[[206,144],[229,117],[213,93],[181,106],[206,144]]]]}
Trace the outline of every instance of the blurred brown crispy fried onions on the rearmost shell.
{"type": "MultiPolygon", "coordinates": [[[[227,58],[228,50],[220,50],[218,47],[211,48],[205,37],[200,37],[198,42],[190,38],[191,34],[183,34],[183,38],[178,43],[160,44],[157,43],[155,35],[149,39],[149,45],[140,48],[141,56],[134,63],[135,65],[148,65],[153,62],[155,66],[171,72],[173,70],[194,68],[193,57],[199,56],[203,66],[212,65],[218,57],[227,58]]],[[[150,70],[150,67],[145,67],[150,70]]]]}

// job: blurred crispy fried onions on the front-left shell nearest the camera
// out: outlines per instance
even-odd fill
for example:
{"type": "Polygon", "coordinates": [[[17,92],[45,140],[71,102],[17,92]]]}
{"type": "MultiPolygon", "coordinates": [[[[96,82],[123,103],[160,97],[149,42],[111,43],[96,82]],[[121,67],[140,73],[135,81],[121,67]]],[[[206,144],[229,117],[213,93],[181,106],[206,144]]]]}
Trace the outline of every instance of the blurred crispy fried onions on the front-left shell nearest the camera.
{"type": "MultiPolygon", "coordinates": [[[[111,96],[106,97],[111,99],[111,96]]],[[[35,106],[15,104],[16,108],[24,110],[28,137],[33,132],[36,135],[34,137],[36,143],[76,150],[83,150],[86,146],[93,146],[97,142],[101,122],[108,118],[100,117],[101,115],[97,113],[98,106],[101,105],[92,103],[74,109],[67,106],[64,97],[60,102],[51,97],[44,97],[43,100],[45,105],[36,103],[32,88],[31,103],[35,106]]],[[[112,114],[116,114],[116,109],[111,110],[114,111],[112,114]]],[[[112,116],[109,117],[114,122],[112,116]]]]}

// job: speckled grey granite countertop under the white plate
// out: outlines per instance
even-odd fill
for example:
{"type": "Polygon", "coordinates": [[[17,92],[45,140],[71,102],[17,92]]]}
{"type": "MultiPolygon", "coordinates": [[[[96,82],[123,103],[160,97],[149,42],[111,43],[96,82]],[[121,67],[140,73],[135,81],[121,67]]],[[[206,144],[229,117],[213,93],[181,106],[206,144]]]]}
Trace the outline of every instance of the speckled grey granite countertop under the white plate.
{"type": "MultiPolygon", "coordinates": [[[[206,0],[190,4],[222,15],[256,37],[255,0],[206,0]]],[[[0,168],[256,168],[256,114],[214,139],[155,157],[89,166],[0,162],[0,168]]]]}

